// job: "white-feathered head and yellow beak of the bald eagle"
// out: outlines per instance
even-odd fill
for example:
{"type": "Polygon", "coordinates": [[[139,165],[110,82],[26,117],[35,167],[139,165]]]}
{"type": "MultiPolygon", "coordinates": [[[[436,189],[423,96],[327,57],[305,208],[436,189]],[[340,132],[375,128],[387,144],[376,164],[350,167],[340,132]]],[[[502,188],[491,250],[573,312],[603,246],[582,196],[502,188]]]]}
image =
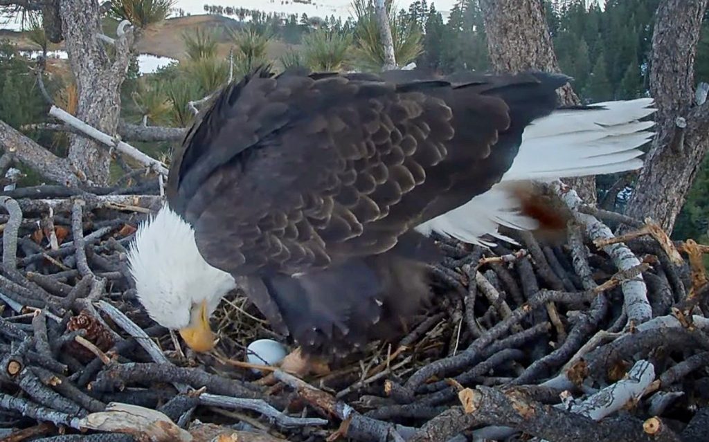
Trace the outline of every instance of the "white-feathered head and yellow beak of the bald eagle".
{"type": "Polygon", "coordinates": [[[138,226],[128,266],[138,299],[155,322],[178,330],[194,351],[213,348],[209,318],[236,283],[202,258],[191,225],[163,205],[138,226]]]}

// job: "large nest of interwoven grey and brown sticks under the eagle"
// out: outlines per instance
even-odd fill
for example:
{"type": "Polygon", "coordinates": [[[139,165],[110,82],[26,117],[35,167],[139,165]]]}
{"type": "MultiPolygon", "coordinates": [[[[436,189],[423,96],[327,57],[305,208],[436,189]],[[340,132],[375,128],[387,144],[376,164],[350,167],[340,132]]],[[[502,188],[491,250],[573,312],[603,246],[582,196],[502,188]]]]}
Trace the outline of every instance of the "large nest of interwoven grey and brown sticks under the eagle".
{"type": "Polygon", "coordinates": [[[0,437],[703,440],[707,248],[550,189],[574,214],[562,241],[439,238],[435,302],[406,334],[299,375],[240,363],[256,339],[289,344],[238,290],[212,319],[212,353],[147,317],[126,248],[159,196],[6,191],[0,437]]]}

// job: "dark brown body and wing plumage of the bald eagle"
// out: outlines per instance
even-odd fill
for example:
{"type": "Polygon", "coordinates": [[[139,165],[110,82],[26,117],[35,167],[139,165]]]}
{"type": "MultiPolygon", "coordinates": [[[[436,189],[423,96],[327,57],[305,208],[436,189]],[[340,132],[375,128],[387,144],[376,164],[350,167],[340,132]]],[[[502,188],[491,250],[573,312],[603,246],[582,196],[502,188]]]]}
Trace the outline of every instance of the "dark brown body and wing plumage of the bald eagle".
{"type": "Polygon", "coordinates": [[[169,203],[201,254],[260,278],[255,303],[306,350],[362,344],[382,314],[418,305],[428,274],[413,264],[432,255],[411,229],[496,183],[566,81],[400,77],[257,70],[176,155],[169,203]]]}

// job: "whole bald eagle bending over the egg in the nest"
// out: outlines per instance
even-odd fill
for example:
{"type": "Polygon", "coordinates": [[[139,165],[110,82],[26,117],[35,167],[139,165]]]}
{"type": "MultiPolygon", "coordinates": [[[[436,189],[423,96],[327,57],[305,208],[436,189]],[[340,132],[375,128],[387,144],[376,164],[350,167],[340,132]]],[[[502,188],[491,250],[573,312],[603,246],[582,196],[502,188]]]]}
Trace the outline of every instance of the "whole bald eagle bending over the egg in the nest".
{"type": "Polygon", "coordinates": [[[238,286],[303,353],[386,336],[430,296],[431,232],[506,239],[498,226],[540,226],[519,183],[642,166],[652,100],[560,108],[568,81],[255,69],[176,149],[130,248],[138,299],[195,351],[238,286]]]}

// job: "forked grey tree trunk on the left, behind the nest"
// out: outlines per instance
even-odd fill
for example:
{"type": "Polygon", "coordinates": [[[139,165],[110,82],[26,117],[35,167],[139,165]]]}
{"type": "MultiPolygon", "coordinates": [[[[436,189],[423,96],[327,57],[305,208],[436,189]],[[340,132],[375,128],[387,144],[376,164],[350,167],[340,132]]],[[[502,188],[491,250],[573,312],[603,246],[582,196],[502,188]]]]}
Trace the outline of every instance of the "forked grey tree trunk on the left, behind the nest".
{"type": "MultiPolygon", "coordinates": [[[[96,38],[103,33],[98,1],[62,0],[60,11],[65,47],[79,93],[76,116],[101,132],[115,134],[133,32],[129,29],[116,39],[116,55],[111,61],[104,47],[106,43],[96,38]]],[[[69,162],[94,185],[108,183],[111,152],[94,140],[72,135],[69,162]]]]}

